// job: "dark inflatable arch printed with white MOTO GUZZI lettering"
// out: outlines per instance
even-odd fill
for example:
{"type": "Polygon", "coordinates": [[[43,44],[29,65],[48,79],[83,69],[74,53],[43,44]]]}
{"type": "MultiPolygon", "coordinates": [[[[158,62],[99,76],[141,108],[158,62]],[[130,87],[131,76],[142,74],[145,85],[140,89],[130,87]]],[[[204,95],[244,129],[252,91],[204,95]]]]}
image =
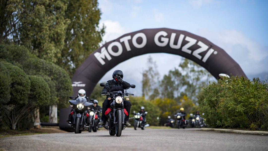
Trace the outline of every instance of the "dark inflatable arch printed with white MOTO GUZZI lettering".
{"type": "MultiPolygon", "coordinates": [[[[206,68],[216,79],[220,73],[246,77],[240,66],[223,49],[203,37],[169,28],[143,29],[107,42],[88,56],[73,75],[74,95],[79,89],[84,89],[89,96],[111,68],[129,58],[147,53],[170,53],[188,58],[206,68]]],[[[69,112],[70,109],[61,111],[61,128],[68,127],[66,119],[69,112]]]]}

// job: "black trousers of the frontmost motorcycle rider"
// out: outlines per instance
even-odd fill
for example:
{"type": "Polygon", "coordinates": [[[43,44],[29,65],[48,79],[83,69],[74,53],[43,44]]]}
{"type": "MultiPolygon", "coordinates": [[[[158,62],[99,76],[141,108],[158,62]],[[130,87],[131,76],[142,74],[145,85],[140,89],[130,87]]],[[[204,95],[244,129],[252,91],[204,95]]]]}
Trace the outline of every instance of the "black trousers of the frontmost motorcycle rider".
{"type": "MultiPolygon", "coordinates": [[[[104,100],[104,102],[102,103],[102,115],[101,115],[101,120],[102,121],[107,121],[107,117],[105,116],[105,111],[110,107],[110,101],[111,100],[104,100]]],[[[123,100],[124,103],[124,108],[126,109],[126,111],[128,112],[128,116],[125,117],[125,122],[128,121],[129,119],[129,113],[130,113],[130,108],[131,108],[131,103],[129,101],[123,100]]]]}

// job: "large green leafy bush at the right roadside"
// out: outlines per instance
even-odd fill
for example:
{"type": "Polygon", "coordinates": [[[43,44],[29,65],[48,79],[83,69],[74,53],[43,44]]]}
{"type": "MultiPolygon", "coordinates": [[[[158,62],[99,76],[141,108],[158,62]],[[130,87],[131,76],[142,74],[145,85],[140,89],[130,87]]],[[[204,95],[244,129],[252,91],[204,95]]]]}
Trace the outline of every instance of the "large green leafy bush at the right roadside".
{"type": "Polygon", "coordinates": [[[198,102],[212,127],[268,130],[267,90],[259,79],[232,76],[211,83],[198,102]]]}

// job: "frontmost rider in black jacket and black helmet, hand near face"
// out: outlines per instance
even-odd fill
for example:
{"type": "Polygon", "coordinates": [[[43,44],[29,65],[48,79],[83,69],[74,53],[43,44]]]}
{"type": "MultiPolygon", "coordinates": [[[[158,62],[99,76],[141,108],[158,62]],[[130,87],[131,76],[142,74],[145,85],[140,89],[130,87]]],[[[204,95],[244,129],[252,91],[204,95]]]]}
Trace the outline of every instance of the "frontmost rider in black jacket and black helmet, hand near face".
{"type": "MultiPolygon", "coordinates": [[[[110,87],[110,91],[122,91],[124,93],[124,89],[130,87],[130,84],[123,81],[123,72],[121,70],[116,70],[113,72],[113,79],[108,80],[106,82],[106,85],[110,87]]],[[[107,94],[109,90],[104,87],[102,89],[102,94],[107,94]]],[[[110,100],[107,99],[108,96],[106,97],[106,100],[102,103],[102,116],[101,116],[101,122],[99,122],[99,125],[103,126],[106,121],[107,117],[105,116],[105,111],[109,108],[110,106],[110,100]]],[[[125,126],[131,126],[131,124],[128,123],[129,119],[129,113],[130,113],[130,108],[131,108],[131,103],[129,101],[124,100],[124,108],[128,112],[128,116],[125,117],[125,126]]]]}

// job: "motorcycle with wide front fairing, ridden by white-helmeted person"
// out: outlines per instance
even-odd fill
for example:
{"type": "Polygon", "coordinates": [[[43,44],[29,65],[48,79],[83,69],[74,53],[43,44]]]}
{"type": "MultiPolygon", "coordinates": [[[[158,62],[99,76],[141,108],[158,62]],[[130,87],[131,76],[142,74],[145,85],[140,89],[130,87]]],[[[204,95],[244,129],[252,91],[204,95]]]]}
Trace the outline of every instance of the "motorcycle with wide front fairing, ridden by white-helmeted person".
{"type": "MultiPolygon", "coordinates": [[[[72,99],[73,97],[69,97],[72,99]]],[[[89,116],[87,110],[93,103],[87,102],[86,98],[78,97],[76,100],[69,100],[70,106],[74,109],[73,121],[70,123],[71,127],[75,129],[75,133],[81,133],[85,130],[86,118],[89,116]]]]}

